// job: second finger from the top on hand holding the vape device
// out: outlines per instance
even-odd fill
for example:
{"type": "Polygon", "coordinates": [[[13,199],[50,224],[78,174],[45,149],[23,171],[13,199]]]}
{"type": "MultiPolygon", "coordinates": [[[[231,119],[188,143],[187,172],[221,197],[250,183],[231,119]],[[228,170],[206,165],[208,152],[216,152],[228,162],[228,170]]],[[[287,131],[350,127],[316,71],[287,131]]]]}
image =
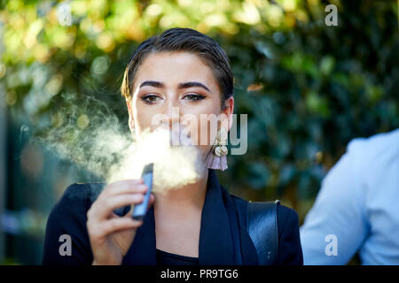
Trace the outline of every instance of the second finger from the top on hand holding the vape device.
{"type": "Polygon", "coordinates": [[[105,219],[120,207],[142,203],[144,200],[143,194],[125,194],[125,195],[113,195],[107,198],[104,202],[99,203],[101,206],[98,210],[98,218],[105,219]]]}

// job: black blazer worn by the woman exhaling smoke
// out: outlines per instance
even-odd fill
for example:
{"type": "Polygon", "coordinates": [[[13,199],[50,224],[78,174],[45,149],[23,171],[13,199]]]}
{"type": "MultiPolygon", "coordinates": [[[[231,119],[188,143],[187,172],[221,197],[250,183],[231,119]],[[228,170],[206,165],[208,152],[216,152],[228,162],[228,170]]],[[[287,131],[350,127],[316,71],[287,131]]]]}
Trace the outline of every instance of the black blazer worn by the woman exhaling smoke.
{"type": "MultiPolygon", "coordinates": [[[[52,208],[47,220],[43,264],[92,264],[93,255],[86,228],[86,213],[104,183],[73,184],[52,208]],[[62,234],[72,240],[72,255],[60,256],[62,234]]],[[[200,265],[257,265],[254,242],[246,232],[247,201],[231,195],[220,186],[214,170],[209,169],[207,193],[200,224],[200,265]]],[[[124,215],[129,206],[114,212],[124,215]]],[[[156,265],[156,238],[153,206],[122,264],[156,265]]],[[[278,264],[303,264],[297,213],[278,205],[278,264]]]]}

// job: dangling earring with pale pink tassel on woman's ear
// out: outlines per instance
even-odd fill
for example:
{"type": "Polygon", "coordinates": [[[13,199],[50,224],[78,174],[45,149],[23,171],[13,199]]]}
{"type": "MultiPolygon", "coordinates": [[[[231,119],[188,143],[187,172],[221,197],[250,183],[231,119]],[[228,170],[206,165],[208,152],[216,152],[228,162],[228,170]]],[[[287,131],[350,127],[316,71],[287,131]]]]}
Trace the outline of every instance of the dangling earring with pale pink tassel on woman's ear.
{"type": "Polygon", "coordinates": [[[207,153],[205,164],[209,169],[224,171],[227,169],[227,133],[223,127],[221,129],[223,130],[217,131],[215,143],[207,153]]]}

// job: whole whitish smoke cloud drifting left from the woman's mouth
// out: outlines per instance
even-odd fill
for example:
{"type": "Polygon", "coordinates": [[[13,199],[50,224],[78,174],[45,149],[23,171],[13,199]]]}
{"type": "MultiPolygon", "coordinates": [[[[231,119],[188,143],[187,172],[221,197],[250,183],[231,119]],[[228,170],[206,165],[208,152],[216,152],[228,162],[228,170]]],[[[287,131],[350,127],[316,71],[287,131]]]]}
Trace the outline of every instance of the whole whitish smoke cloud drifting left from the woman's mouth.
{"type": "Polygon", "coordinates": [[[106,183],[138,179],[145,164],[150,162],[154,163],[154,192],[183,187],[206,173],[200,149],[190,144],[190,138],[181,128],[174,133],[159,127],[133,141],[129,131],[122,130],[118,119],[97,100],[85,109],[90,109],[90,116],[83,116],[88,122],[73,112],[73,117],[64,117],[59,126],[52,127],[38,140],[106,183]],[[170,143],[176,134],[181,145],[170,143]]]}

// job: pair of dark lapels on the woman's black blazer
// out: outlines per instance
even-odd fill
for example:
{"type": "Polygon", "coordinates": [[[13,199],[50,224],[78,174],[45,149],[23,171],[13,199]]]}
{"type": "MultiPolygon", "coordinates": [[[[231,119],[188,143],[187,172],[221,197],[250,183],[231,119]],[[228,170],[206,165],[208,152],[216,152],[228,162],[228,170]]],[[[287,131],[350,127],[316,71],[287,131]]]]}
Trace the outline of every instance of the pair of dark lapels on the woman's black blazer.
{"type": "MultiPolygon", "coordinates": [[[[244,229],[239,226],[237,213],[232,210],[231,204],[234,203],[226,193],[227,191],[220,186],[215,171],[209,169],[200,224],[200,265],[242,264],[240,250],[243,246],[247,247],[247,242],[240,242],[244,229]]],[[[152,205],[145,214],[143,225],[137,228],[136,237],[122,264],[157,264],[154,219],[152,205]]],[[[244,238],[247,241],[246,235],[244,238]]],[[[253,253],[254,250],[251,254],[254,255],[253,253]]]]}

